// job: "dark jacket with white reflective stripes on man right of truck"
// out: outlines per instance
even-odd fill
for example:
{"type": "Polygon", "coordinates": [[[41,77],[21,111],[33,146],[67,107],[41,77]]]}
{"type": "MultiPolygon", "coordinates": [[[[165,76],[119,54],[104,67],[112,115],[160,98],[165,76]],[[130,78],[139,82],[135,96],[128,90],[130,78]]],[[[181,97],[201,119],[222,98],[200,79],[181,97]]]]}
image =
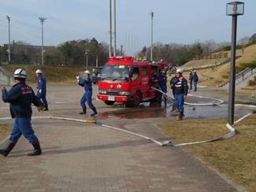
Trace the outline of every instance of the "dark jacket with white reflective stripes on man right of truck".
{"type": "Polygon", "coordinates": [[[181,80],[176,76],[171,79],[171,88],[173,90],[173,94],[184,94],[187,95],[188,87],[187,80],[183,77],[181,80]]]}

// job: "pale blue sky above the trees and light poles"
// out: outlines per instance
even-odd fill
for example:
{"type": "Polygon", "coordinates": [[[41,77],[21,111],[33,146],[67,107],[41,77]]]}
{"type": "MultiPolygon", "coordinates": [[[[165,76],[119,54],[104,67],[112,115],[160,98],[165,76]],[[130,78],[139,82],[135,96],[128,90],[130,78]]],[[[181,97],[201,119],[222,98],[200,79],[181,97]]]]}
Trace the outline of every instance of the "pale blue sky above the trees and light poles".
{"type": "MultiPolygon", "coordinates": [[[[230,1],[117,0],[117,44],[129,50],[150,44],[150,10],[155,13],[154,42],[229,41],[231,17],[225,15],[225,4],[230,1]]],[[[256,32],[256,1],[244,2],[238,39],[256,32]]],[[[39,45],[38,17],[46,17],[45,45],[93,37],[109,41],[109,0],[0,0],[0,5],[0,43],[8,41],[5,15],[11,17],[11,39],[39,45]]]]}

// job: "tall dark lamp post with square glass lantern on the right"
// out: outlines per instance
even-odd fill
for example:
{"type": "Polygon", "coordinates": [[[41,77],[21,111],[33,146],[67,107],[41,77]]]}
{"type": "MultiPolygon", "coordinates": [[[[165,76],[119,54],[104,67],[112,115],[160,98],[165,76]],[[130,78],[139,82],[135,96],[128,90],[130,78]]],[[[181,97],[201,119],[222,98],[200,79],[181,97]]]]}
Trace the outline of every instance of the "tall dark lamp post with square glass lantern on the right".
{"type": "Polygon", "coordinates": [[[235,94],[236,94],[236,32],[237,16],[243,15],[243,2],[230,2],[227,4],[227,15],[232,16],[232,44],[231,62],[229,75],[229,95],[228,95],[228,124],[234,124],[235,114],[235,94]]]}

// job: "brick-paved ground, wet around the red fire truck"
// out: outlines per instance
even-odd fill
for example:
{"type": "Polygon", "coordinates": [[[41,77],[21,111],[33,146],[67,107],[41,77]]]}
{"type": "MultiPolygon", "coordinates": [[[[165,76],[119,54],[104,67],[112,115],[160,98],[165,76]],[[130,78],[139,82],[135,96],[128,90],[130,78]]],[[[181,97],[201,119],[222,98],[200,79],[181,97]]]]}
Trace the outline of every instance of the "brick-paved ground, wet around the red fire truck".
{"type": "MultiPolygon", "coordinates": [[[[48,88],[50,111],[33,116],[80,116],[77,86],[48,88]]],[[[95,97],[95,94],[94,94],[95,97]]],[[[125,109],[95,101],[98,120],[165,140],[157,124],[174,120],[175,114],[158,106],[125,109]]],[[[0,102],[0,118],[9,116],[0,102]]],[[[224,114],[226,108],[187,109],[187,116],[224,114]]],[[[88,110],[91,113],[90,110],[88,110]]],[[[12,124],[1,120],[0,124],[12,124]]],[[[227,180],[185,153],[182,148],[156,144],[95,124],[65,120],[32,120],[43,147],[39,157],[27,157],[32,146],[20,138],[9,157],[0,157],[0,191],[237,191],[227,180]]],[[[170,127],[171,128],[171,127],[170,127]]]]}

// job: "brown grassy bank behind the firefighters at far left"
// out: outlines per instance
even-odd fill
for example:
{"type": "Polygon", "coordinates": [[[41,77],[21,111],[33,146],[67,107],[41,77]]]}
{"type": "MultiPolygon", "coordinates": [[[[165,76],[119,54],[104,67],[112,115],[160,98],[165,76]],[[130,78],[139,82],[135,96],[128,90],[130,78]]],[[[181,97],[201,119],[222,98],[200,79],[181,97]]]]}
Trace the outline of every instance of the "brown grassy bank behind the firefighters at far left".
{"type": "Polygon", "coordinates": [[[36,83],[36,69],[43,70],[47,82],[51,84],[76,83],[76,76],[85,70],[83,66],[38,66],[38,65],[1,65],[6,71],[13,73],[17,68],[24,68],[27,72],[28,83],[36,83]]]}

